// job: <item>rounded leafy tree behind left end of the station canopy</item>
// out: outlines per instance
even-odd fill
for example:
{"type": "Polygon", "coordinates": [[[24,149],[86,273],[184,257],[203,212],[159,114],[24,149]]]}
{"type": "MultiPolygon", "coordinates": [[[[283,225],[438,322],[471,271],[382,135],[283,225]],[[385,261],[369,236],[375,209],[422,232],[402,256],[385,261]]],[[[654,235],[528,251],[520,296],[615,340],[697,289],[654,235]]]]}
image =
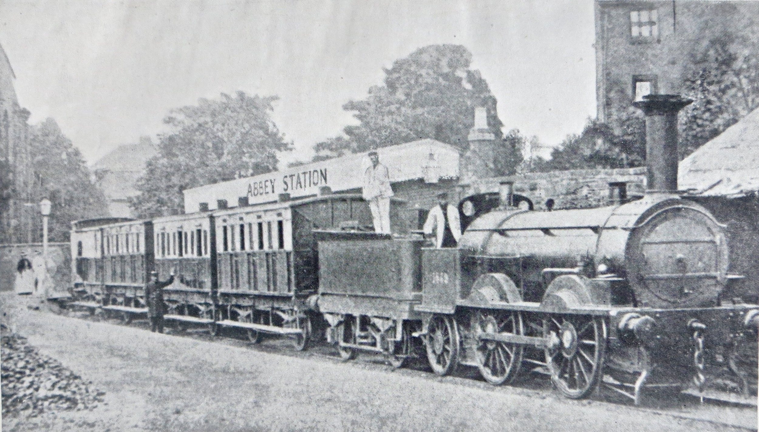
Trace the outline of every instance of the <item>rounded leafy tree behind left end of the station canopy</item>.
{"type": "Polygon", "coordinates": [[[290,149],[271,119],[277,99],[238,91],[169,111],[159,154],[137,180],[134,211],[140,218],[176,214],[183,189],[276,170],[277,152],[290,149]]]}

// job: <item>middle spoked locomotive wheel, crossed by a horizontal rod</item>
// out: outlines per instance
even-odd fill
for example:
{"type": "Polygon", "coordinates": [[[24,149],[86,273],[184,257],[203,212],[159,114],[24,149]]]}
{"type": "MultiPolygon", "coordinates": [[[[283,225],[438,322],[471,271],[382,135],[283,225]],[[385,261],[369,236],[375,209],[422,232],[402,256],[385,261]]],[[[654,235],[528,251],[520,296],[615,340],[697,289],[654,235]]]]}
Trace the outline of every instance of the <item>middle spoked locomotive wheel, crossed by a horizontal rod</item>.
{"type": "MultiPolygon", "coordinates": [[[[524,334],[519,311],[477,311],[473,325],[475,337],[481,333],[524,334]]],[[[523,352],[521,345],[480,339],[475,349],[477,368],[487,382],[499,386],[516,376],[523,352]]]]}

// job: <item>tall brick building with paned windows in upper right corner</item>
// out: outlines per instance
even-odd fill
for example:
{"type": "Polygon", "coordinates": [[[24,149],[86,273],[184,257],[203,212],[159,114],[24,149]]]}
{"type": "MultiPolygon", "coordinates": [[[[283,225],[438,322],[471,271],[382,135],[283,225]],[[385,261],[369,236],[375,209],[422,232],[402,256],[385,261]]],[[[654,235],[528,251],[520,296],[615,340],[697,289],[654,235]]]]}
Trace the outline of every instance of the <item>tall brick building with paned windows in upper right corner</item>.
{"type": "Polygon", "coordinates": [[[596,0],[597,117],[611,121],[649,93],[679,94],[693,53],[756,33],[759,2],[596,0]]]}

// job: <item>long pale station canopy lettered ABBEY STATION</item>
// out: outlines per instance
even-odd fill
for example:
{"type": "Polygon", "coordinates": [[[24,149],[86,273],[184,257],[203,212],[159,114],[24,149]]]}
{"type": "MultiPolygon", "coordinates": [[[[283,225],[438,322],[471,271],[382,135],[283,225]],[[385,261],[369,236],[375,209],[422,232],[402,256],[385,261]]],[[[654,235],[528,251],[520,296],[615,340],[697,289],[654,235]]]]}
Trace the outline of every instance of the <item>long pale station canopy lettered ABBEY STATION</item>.
{"type": "MultiPolygon", "coordinates": [[[[461,155],[458,149],[444,142],[420,139],[383,147],[376,152],[379,161],[388,167],[391,183],[458,178],[461,155]]],[[[320,193],[323,186],[329,186],[332,192],[361,188],[364,172],[370,163],[366,152],[356,153],[254,177],[186,189],[183,191],[184,212],[199,211],[201,202],[207,202],[210,210],[216,209],[219,199],[225,199],[228,205],[235,206],[238,198],[245,196],[249,204],[260,204],[276,201],[281,193],[289,193],[293,199],[314,196],[320,193]]]]}

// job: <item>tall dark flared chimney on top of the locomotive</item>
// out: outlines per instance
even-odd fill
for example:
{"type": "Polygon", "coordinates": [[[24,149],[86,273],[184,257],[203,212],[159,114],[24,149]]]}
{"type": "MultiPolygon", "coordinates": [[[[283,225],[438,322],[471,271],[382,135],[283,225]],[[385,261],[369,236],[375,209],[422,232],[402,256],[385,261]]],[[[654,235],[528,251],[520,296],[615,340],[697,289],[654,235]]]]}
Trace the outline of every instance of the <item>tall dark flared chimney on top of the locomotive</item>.
{"type": "Polygon", "coordinates": [[[677,113],[691,102],[679,95],[646,95],[633,103],[646,114],[646,193],[677,193],[677,113]]]}

